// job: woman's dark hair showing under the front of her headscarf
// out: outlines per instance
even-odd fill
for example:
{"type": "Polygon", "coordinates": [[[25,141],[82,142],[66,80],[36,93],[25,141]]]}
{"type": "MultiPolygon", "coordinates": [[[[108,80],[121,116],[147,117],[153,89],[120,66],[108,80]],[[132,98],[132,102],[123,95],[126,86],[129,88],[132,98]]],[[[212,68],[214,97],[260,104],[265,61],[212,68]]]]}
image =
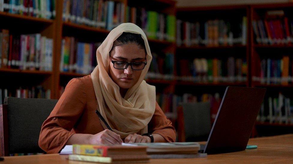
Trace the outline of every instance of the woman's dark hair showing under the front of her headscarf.
{"type": "Polygon", "coordinates": [[[146,53],[146,46],[144,44],[144,40],[141,37],[141,34],[137,33],[128,33],[128,32],[123,32],[114,42],[113,46],[110,50],[109,53],[114,49],[116,46],[122,46],[126,45],[128,43],[136,43],[138,47],[141,49],[144,49],[144,52],[146,53]]]}

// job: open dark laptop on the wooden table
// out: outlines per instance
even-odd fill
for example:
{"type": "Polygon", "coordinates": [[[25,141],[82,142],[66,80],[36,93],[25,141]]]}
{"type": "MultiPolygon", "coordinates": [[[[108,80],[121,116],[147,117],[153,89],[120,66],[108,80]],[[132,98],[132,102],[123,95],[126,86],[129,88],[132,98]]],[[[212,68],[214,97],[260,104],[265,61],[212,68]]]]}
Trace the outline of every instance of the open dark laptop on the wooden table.
{"type": "Polygon", "coordinates": [[[246,149],[265,88],[227,87],[202,153],[218,154],[246,149]]]}

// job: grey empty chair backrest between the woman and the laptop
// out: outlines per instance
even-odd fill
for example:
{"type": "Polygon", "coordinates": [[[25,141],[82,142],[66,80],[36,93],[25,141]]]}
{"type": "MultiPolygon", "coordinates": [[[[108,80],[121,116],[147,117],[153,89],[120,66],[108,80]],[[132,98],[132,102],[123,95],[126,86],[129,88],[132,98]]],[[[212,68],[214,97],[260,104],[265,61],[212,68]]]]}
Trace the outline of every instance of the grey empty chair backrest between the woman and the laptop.
{"type": "Polygon", "coordinates": [[[206,141],[211,130],[210,103],[183,103],[185,141],[206,141]]]}

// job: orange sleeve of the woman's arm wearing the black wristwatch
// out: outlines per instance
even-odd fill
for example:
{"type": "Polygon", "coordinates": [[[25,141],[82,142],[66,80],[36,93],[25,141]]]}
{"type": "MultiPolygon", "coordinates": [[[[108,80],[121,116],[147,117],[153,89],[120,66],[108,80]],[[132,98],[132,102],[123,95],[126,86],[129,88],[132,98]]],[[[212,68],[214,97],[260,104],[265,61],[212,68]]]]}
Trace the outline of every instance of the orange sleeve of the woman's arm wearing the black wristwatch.
{"type": "Polygon", "coordinates": [[[172,122],[165,116],[159,104],[156,102],[155,113],[148,124],[149,133],[160,134],[166,142],[175,142],[176,131],[172,122]]]}

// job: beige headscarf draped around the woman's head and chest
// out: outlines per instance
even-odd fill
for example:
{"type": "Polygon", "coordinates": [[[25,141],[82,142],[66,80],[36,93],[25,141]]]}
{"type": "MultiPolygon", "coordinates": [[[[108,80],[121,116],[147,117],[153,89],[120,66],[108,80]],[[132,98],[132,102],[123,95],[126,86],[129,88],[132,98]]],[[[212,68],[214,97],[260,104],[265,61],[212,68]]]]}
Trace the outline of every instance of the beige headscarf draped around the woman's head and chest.
{"type": "MultiPolygon", "coordinates": [[[[129,134],[147,133],[147,124],[155,112],[156,88],[148,85],[144,79],[152,61],[149,43],[143,30],[133,23],[122,23],[110,31],[107,38],[97,49],[98,65],[91,73],[95,95],[98,100],[98,111],[116,134],[121,138],[129,134]],[[109,52],[113,42],[123,33],[141,34],[146,46],[147,65],[137,83],[121,97],[119,86],[110,78],[109,52]]],[[[107,127],[102,123],[104,129],[107,127]]]]}

